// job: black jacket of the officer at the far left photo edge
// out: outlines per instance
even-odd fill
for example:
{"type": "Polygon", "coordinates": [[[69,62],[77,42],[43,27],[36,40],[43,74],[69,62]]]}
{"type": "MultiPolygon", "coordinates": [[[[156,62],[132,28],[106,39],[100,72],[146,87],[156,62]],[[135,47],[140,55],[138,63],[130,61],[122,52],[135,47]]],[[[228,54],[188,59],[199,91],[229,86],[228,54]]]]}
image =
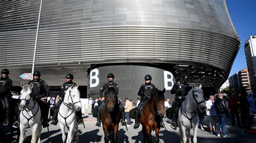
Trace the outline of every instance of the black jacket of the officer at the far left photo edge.
{"type": "Polygon", "coordinates": [[[12,81],[9,76],[0,80],[0,97],[9,96],[12,87],[12,81]]]}

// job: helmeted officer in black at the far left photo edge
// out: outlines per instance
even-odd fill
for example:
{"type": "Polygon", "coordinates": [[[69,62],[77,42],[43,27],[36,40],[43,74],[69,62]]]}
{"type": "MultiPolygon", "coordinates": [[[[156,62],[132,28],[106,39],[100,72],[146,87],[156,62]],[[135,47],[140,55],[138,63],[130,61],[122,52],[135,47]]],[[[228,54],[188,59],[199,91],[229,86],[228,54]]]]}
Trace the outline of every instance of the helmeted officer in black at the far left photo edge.
{"type": "Polygon", "coordinates": [[[4,101],[5,105],[5,120],[4,120],[4,126],[9,124],[9,114],[10,114],[10,108],[11,108],[11,87],[12,87],[12,81],[9,78],[9,70],[3,69],[1,71],[2,77],[0,80],[0,98],[4,101]]]}

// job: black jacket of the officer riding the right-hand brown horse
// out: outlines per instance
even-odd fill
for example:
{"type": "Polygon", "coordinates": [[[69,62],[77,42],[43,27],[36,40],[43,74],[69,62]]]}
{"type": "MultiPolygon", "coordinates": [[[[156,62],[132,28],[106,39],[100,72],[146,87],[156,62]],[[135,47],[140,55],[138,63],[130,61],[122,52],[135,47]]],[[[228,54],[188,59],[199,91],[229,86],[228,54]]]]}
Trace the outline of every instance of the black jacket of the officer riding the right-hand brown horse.
{"type": "Polygon", "coordinates": [[[140,101],[142,102],[145,102],[146,99],[150,99],[154,94],[156,94],[156,87],[152,83],[144,83],[139,88],[138,96],[140,96],[140,101]]]}

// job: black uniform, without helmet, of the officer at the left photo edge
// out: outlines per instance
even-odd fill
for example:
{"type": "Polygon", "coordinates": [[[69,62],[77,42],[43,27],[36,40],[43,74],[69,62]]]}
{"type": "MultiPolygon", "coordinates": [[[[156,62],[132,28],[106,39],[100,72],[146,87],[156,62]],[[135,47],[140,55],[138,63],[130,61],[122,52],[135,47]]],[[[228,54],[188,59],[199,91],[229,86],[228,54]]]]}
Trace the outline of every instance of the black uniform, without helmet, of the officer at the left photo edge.
{"type": "Polygon", "coordinates": [[[5,78],[1,77],[0,98],[2,98],[2,100],[4,101],[4,104],[5,104],[5,119],[7,119],[7,120],[9,120],[9,113],[10,113],[10,108],[11,108],[10,107],[11,87],[12,87],[12,81],[9,78],[9,76],[6,76],[5,78]]]}

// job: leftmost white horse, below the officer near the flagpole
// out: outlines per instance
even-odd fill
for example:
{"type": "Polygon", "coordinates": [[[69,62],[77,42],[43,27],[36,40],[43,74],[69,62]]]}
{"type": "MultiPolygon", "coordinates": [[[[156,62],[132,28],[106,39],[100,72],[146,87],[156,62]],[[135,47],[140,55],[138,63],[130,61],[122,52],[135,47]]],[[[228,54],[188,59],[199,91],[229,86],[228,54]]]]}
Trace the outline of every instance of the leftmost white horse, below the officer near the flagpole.
{"type": "Polygon", "coordinates": [[[41,110],[36,99],[33,97],[33,83],[25,85],[22,82],[21,87],[21,104],[19,105],[19,110],[21,110],[19,115],[21,135],[19,136],[19,142],[23,142],[27,127],[31,127],[32,130],[31,142],[40,142],[42,131],[41,110]]]}

